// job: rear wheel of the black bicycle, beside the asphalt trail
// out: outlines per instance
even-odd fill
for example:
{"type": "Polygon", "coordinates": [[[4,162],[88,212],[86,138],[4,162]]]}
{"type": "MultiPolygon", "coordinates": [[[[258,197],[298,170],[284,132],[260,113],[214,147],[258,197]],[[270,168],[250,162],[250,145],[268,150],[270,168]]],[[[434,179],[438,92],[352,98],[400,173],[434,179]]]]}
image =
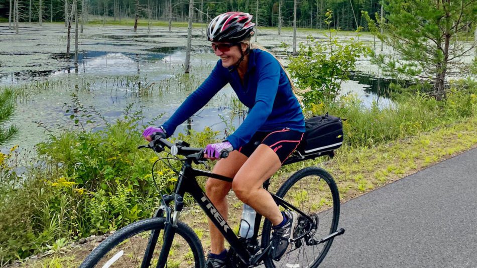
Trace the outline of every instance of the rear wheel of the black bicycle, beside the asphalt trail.
{"type": "MultiPolygon", "coordinates": [[[[293,174],[278,190],[277,196],[308,215],[312,221],[297,212],[294,237],[302,234],[280,260],[265,259],[266,267],[317,267],[323,261],[333,239],[321,244],[315,241],[336,231],[339,219],[339,193],[336,183],[329,173],[318,167],[308,167],[293,174]]],[[[280,204],[279,204],[280,207],[280,204]]],[[[283,207],[280,207],[283,210],[283,207]]],[[[272,224],[266,220],[262,233],[262,245],[270,244],[272,224]]]]}

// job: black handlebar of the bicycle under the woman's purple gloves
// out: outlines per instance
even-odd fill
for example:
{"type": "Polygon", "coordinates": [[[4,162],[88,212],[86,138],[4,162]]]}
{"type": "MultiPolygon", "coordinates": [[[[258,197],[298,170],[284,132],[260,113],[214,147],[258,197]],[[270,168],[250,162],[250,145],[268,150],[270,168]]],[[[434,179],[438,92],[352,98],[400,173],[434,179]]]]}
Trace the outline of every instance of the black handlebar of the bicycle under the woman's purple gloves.
{"type": "MultiPolygon", "coordinates": [[[[164,139],[161,135],[153,134],[151,135],[152,141],[148,145],[141,145],[138,149],[141,148],[149,148],[154,150],[155,152],[162,152],[164,151],[165,147],[171,150],[171,154],[181,155],[186,157],[187,159],[193,161],[203,161],[206,160],[204,158],[204,149],[203,148],[192,148],[186,142],[180,141],[176,144],[169,142],[168,140],[164,139]]],[[[220,154],[220,158],[227,158],[228,152],[224,151],[220,154]]]]}

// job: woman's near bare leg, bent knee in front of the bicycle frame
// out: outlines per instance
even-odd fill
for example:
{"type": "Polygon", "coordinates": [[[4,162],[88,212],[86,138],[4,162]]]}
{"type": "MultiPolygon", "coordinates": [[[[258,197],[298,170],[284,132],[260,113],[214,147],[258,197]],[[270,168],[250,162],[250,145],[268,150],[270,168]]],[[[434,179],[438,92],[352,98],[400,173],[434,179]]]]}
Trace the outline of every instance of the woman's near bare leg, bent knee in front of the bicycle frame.
{"type": "Polygon", "coordinates": [[[262,185],[280,167],[277,154],[262,144],[240,168],[232,182],[235,195],[269,219],[273,225],[280,224],[283,216],[270,193],[263,189],[262,185]]]}

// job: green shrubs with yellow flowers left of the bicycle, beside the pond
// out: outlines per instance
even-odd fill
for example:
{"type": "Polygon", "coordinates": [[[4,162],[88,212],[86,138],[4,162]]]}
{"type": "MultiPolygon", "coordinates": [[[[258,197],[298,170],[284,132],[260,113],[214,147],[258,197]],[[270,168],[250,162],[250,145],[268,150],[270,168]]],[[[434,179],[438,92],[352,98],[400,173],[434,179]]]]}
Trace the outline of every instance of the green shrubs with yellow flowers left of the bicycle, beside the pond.
{"type": "MultiPolygon", "coordinates": [[[[47,250],[62,237],[104,233],[150,217],[159,206],[158,188],[163,194],[173,191],[177,174],[158,162],[156,188],[151,167],[159,156],[137,149],[146,143],[140,111],[129,105],[122,118],[102,122],[96,131],[91,125],[98,125],[100,114],[76,104],[74,127],[38,144],[38,163],[23,176],[15,173],[13,154],[0,155],[0,212],[5,215],[0,220],[0,262],[47,250]]],[[[178,137],[205,147],[217,133],[206,128],[178,137]]],[[[180,170],[180,161],[170,164],[180,170]]]]}

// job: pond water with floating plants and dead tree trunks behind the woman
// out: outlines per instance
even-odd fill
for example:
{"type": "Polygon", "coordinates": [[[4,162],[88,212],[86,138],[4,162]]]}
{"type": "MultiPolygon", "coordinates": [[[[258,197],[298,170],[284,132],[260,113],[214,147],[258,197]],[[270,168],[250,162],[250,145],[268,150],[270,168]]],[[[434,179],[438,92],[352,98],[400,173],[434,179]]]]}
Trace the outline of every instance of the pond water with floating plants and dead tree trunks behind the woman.
{"type": "MultiPolygon", "coordinates": [[[[8,30],[8,24],[0,23],[0,86],[15,86],[20,92],[14,122],[21,138],[4,149],[14,144],[31,147],[44,141],[44,128],[38,127],[38,122],[52,131],[72,125],[70,114],[65,112],[72,103],[72,94],[85,107],[95,107],[108,121],[122,116],[125,107],[133,103],[134,109],[142,109],[146,115],[145,124],[164,113],[157,121],[160,124],[207,77],[217,61],[201,29],[195,29],[191,74],[184,74],[186,30],[177,28],[170,34],[167,28],[158,27],[151,33],[147,29],[133,33],[132,27],[87,26],[80,34],[78,67],[74,68],[73,54],[65,57],[66,30],[62,24],[25,24],[16,35],[8,30]]],[[[308,34],[299,33],[299,42],[308,34]]],[[[346,40],[348,36],[340,38],[346,40]]],[[[370,42],[372,37],[362,39],[370,42]]],[[[285,53],[278,48],[282,42],[290,44],[291,32],[278,36],[272,30],[259,31],[258,43],[274,53],[285,53]]],[[[364,72],[373,71],[366,59],[358,64],[364,72]]],[[[391,100],[384,91],[388,82],[360,73],[354,80],[343,82],[342,88],[344,94],[358,95],[365,105],[374,100],[389,105],[391,100]]],[[[233,97],[227,85],[178,131],[205,126],[223,131],[224,120],[239,125],[244,115],[231,114],[243,106],[234,105],[233,97]]]]}

